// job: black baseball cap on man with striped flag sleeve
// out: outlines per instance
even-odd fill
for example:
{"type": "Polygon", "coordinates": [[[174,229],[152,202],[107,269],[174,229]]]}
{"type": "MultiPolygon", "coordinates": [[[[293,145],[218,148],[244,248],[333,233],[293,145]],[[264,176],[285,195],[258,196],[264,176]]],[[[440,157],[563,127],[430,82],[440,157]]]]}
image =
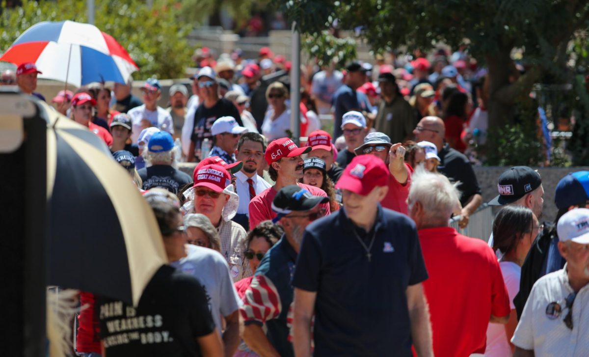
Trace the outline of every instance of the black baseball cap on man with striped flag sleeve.
{"type": "Polygon", "coordinates": [[[272,210],[278,213],[272,222],[278,222],[289,213],[309,211],[317,207],[318,204],[327,202],[329,202],[329,197],[313,196],[312,193],[298,185],[282,187],[272,201],[272,210]]]}

